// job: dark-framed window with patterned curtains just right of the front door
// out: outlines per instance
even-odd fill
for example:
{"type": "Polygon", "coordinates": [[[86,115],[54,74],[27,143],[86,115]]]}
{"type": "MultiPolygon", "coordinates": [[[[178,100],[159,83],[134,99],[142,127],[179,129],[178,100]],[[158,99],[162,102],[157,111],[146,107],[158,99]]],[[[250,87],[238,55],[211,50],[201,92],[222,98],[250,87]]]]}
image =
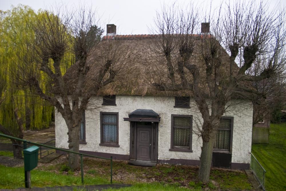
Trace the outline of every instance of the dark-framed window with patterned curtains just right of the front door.
{"type": "Polygon", "coordinates": [[[192,152],[192,115],[171,115],[169,151],[192,152]]]}

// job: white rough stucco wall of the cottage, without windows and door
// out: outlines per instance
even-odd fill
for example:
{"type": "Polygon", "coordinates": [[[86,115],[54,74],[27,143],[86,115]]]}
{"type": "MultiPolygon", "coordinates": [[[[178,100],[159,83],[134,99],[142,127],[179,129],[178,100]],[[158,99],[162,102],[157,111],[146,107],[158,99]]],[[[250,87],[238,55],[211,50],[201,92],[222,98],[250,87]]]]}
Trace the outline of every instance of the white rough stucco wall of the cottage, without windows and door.
{"type": "MultiPolygon", "coordinates": [[[[158,132],[158,159],[188,159],[199,160],[202,140],[192,134],[192,151],[169,151],[171,141],[171,114],[193,115],[193,130],[200,128],[201,115],[196,104],[191,99],[190,109],[174,108],[174,97],[149,96],[116,96],[116,106],[102,106],[102,97],[95,97],[86,111],[86,145],[80,144],[80,150],[114,154],[130,154],[130,122],[124,117],[136,109],[152,109],[161,117],[158,132]],[[98,109],[93,109],[100,106],[98,109]],[[119,113],[119,145],[120,147],[100,146],[100,111],[119,113]]],[[[250,163],[251,136],[252,136],[251,102],[235,100],[229,103],[225,116],[234,117],[232,162],[250,163]]],[[[56,147],[68,148],[68,135],[65,121],[60,113],[55,111],[56,147]]]]}

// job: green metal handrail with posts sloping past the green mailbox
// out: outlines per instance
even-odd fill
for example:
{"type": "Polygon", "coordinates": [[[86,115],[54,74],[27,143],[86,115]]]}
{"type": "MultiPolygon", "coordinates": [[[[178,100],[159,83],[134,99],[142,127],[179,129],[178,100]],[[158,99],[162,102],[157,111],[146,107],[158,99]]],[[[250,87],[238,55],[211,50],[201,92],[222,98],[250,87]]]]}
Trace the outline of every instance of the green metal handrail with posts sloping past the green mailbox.
{"type": "Polygon", "coordinates": [[[27,143],[29,143],[29,144],[37,145],[37,146],[40,146],[40,147],[47,147],[47,148],[50,148],[50,149],[56,149],[56,150],[59,150],[59,151],[64,151],[64,152],[74,153],[74,154],[80,155],[80,167],[81,167],[81,175],[82,175],[82,184],[84,184],[84,170],[83,170],[83,159],[82,159],[83,156],[110,160],[110,184],[112,184],[112,156],[110,158],[97,157],[97,156],[94,156],[94,155],[88,155],[88,154],[79,153],[79,152],[75,152],[75,151],[69,151],[67,149],[60,149],[60,148],[52,147],[52,146],[49,146],[49,145],[43,145],[41,143],[34,143],[34,142],[31,142],[31,141],[27,141],[25,139],[19,139],[17,137],[12,137],[12,136],[1,134],[1,133],[0,133],[0,136],[6,137],[6,138],[9,138],[9,139],[14,139],[14,140],[17,140],[17,141],[23,141],[24,148],[27,148],[27,143]]]}

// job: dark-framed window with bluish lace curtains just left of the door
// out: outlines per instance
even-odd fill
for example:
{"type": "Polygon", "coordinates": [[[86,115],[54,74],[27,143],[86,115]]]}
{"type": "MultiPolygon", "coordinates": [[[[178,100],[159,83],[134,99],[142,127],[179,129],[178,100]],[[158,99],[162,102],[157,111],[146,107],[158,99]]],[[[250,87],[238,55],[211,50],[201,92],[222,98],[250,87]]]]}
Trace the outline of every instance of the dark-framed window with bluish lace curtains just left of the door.
{"type": "Polygon", "coordinates": [[[100,145],[119,147],[118,113],[100,112],[100,145]]]}

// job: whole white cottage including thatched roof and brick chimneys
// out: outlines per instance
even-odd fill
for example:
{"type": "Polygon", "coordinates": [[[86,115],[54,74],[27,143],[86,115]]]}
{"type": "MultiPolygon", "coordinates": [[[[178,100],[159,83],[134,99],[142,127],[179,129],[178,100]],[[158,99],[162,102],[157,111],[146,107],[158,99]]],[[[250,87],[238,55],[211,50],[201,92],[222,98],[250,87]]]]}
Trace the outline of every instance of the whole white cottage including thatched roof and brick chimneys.
{"type": "MultiPolygon", "coordinates": [[[[80,152],[130,163],[199,165],[203,119],[192,92],[160,91],[150,85],[168,70],[150,48],[154,35],[114,36],[115,25],[107,25],[107,31],[103,40],[117,38],[132,48],[124,58],[125,74],[116,76],[90,100],[81,123],[80,152]]],[[[195,38],[199,49],[200,36],[195,38]]],[[[224,50],[220,54],[229,57],[224,50]]],[[[97,71],[93,63],[99,59],[101,55],[88,58],[91,73],[97,71]]],[[[227,103],[215,137],[212,166],[249,169],[252,122],[251,101],[227,103]]],[[[55,137],[56,147],[68,148],[67,127],[57,111],[55,137]]]]}

